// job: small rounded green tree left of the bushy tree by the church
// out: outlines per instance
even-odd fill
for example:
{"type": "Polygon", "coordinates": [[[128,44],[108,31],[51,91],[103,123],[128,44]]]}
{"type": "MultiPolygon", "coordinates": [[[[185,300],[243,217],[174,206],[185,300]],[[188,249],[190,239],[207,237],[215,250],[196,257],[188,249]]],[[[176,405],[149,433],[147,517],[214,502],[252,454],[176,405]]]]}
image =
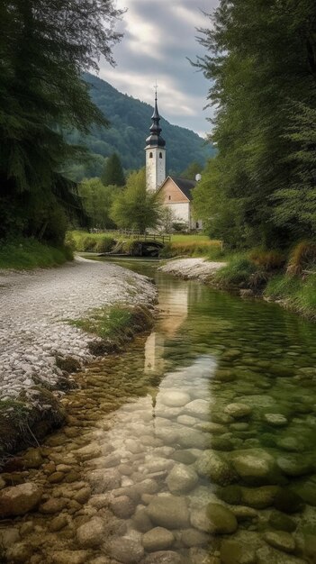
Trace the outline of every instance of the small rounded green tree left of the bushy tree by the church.
{"type": "Polygon", "coordinates": [[[121,192],[118,186],[104,186],[100,178],[83,180],[78,186],[78,194],[93,229],[115,229],[110,217],[110,209],[115,196],[121,192]]]}

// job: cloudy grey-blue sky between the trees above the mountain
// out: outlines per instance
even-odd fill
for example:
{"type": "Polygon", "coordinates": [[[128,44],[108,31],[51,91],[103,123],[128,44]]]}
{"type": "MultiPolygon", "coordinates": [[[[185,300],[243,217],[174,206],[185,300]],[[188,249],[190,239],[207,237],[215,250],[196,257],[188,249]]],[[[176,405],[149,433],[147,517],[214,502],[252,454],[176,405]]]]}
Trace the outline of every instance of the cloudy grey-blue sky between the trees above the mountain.
{"type": "Polygon", "coordinates": [[[117,63],[112,68],[100,61],[99,77],[123,94],[154,103],[158,84],[159,114],[168,122],[205,136],[212,115],[207,104],[210,82],[188,59],[205,54],[196,41],[196,28],[209,27],[203,12],[212,13],[217,0],[116,0],[127,8],[117,30],[123,33],[113,48],[117,63]]]}

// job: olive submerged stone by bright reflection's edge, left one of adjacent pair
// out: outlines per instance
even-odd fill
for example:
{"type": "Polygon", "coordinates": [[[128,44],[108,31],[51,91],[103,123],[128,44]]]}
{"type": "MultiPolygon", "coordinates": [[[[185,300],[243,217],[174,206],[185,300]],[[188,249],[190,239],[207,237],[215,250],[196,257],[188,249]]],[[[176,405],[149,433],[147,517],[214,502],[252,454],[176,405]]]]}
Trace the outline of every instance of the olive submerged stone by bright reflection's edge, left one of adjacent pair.
{"type": "Polygon", "coordinates": [[[237,478],[233,468],[213,450],[204,450],[196,460],[195,468],[200,476],[210,478],[220,486],[228,486],[237,478]]]}

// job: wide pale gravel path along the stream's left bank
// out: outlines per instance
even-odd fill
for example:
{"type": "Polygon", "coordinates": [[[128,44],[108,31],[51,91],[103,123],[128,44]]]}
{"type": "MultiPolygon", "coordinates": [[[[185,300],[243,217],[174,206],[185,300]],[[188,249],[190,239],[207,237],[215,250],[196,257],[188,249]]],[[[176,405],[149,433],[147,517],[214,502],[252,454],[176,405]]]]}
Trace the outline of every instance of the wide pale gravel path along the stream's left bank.
{"type": "Polygon", "coordinates": [[[68,319],[102,305],[149,305],[155,297],[146,277],[108,262],[76,259],[50,270],[0,270],[0,398],[17,396],[34,378],[54,383],[61,374],[56,355],[92,359],[92,335],[68,319]]]}

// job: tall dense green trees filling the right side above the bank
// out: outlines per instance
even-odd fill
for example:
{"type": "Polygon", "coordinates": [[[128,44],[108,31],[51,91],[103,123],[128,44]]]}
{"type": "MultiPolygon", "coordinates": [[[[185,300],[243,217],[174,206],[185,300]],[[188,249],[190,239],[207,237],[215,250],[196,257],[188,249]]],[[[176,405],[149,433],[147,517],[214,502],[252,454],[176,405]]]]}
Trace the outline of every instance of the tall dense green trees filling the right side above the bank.
{"type": "Polygon", "coordinates": [[[316,234],[316,4],[221,0],[197,65],[212,80],[218,155],[196,214],[231,247],[316,234]]]}

